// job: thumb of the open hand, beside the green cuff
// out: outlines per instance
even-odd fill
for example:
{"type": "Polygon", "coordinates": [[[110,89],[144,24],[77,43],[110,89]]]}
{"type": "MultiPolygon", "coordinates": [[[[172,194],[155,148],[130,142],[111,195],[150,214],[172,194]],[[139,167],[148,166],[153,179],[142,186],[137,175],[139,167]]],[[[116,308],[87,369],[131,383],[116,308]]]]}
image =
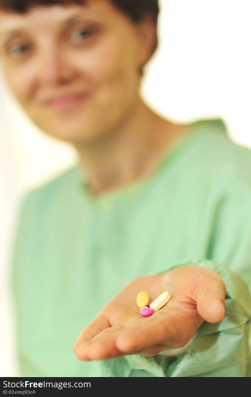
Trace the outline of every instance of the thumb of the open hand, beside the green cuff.
{"type": "Polygon", "coordinates": [[[215,273],[203,279],[196,291],[197,310],[210,323],[220,322],[225,314],[226,285],[215,273]]]}

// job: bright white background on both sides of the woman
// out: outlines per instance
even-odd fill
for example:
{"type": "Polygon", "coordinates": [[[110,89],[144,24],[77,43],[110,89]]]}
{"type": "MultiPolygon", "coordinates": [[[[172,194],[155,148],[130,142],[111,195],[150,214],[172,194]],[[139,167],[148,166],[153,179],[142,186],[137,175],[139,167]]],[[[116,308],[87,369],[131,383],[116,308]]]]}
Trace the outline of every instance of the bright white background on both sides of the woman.
{"type": "MultiPolygon", "coordinates": [[[[159,49],[143,97],[174,122],[220,117],[231,139],[251,147],[250,1],[162,0],[160,6],[159,49]]],[[[8,277],[20,198],[76,160],[70,145],[26,118],[0,75],[0,376],[19,376],[8,277]]]]}

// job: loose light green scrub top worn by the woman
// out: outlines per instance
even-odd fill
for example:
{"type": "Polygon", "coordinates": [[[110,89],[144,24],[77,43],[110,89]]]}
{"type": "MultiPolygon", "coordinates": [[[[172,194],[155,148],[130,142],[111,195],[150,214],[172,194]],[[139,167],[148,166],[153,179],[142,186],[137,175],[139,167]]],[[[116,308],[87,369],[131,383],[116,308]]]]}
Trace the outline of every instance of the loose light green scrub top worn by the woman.
{"type": "Polygon", "coordinates": [[[251,150],[221,119],[190,128],[130,187],[92,197],[77,164],[25,193],[12,258],[21,376],[251,375],[251,150]],[[80,331],[129,281],[186,264],[226,283],[222,322],[176,355],[75,357],[80,331]]]}

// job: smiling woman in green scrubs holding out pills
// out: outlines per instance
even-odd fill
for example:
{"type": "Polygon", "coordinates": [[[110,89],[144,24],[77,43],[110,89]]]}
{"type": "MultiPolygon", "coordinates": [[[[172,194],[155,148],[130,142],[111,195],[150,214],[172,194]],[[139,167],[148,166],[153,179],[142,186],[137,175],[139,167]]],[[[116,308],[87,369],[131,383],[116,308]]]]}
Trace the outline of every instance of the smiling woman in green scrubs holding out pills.
{"type": "Polygon", "coordinates": [[[141,99],[157,1],[0,0],[0,10],[10,89],[79,154],[23,202],[21,374],[248,376],[251,154],[221,120],[174,124],[141,99]],[[142,318],[145,290],[172,297],[142,318]]]}

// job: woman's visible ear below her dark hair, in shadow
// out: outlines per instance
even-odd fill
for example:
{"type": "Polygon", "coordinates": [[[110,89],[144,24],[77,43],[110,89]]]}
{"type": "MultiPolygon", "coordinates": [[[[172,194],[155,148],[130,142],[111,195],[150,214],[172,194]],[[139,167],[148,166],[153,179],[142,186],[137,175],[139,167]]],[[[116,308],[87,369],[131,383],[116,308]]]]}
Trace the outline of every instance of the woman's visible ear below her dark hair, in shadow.
{"type": "Polygon", "coordinates": [[[140,69],[145,66],[157,46],[157,27],[151,15],[147,15],[137,23],[138,63],[140,69]]]}

